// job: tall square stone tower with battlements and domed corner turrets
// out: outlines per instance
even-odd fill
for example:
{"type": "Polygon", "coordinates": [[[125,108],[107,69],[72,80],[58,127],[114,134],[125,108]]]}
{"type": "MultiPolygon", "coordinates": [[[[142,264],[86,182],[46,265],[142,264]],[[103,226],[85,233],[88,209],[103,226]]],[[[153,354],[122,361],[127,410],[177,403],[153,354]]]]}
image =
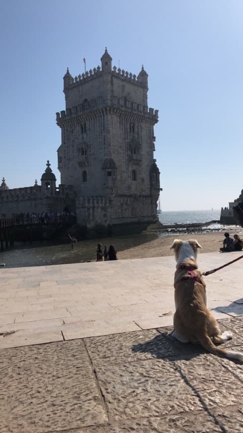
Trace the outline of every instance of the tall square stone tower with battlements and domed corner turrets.
{"type": "Polygon", "coordinates": [[[154,159],[158,110],[148,108],[148,74],[113,66],[64,76],[66,110],[57,113],[61,184],[73,185],[77,220],[87,227],[157,221],[160,172],[154,159]]]}

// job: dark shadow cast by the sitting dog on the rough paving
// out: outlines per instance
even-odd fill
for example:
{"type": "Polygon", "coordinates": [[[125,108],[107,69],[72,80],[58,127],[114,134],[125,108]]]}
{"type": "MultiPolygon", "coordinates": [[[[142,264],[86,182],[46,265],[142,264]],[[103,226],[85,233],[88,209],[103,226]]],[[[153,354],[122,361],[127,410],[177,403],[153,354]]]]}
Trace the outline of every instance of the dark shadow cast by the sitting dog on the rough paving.
{"type": "Polygon", "coordinates": [[[195,356],[208,353],[200,344],[180,343],[171,336],[173,327],[161,329],[158,335],[144,343],[134,344],[133,352],[151,353],[155,358],[174,360],[192,359],[195,356]]]}

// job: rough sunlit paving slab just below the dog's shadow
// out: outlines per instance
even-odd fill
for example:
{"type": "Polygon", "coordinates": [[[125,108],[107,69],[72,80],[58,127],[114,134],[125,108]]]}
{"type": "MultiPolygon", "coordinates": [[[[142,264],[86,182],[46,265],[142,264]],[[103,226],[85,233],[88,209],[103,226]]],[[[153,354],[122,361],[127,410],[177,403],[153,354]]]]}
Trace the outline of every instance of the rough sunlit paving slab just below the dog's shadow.
{"type": "Polygon", "coordinates": [[[96,367],[111,419],[140,419],[202,409],[173,362],[147,359],[96,367]],[[177,396],[177,398],[175,398],[177,396]]]}

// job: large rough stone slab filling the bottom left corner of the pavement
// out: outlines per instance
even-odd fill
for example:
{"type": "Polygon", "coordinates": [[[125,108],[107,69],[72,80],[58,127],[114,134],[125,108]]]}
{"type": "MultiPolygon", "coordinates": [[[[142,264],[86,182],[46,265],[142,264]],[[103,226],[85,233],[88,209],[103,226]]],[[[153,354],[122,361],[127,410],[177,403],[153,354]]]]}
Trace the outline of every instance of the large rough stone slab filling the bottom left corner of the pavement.
{"type": "Polygon", "coordinates": [[[44,433],[105,423],[82,341],[0,351],[0,431],[44,433]]]}

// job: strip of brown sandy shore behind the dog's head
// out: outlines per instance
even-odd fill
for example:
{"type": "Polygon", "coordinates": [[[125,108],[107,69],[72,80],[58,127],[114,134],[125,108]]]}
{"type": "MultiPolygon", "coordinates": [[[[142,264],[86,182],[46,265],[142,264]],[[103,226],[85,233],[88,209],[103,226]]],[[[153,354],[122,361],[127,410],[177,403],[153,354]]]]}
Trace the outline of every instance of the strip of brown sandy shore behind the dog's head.
{"type": "MultiPolygon", "coordinates": [[[[170,256],[173,255],[173,251],[170,250],[170,247],[175,238],[183,240],[197,239],[202,246],[200,251],[203,253],[219,251],[219,248],[223,246],[224,232],[225,231],[161,237],[124,251],[118,251],[117,257],[118,259],[138,259],[145,257],[170,256]]],[[[230,232],[232,237],[235,233],[238,233],[239,236],[243,238],[243,228],[236,228],[234,231],[230,232]]]]}

